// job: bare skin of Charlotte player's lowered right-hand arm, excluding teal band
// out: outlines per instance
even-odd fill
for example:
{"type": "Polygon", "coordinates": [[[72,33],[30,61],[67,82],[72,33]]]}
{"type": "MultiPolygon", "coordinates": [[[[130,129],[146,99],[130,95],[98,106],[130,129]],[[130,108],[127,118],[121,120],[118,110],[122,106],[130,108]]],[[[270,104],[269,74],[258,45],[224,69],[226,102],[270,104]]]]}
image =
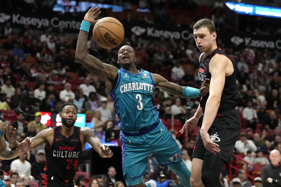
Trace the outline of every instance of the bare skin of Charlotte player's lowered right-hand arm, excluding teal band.
{"type": "MultiPolygon", "coordinates": [[[[153,79],[155,81],[155,86],[158,88],[163,89],[164,91],[168,93],[172,93],[174,95],[180,96],[180,97],[185,97],[184,96],[184,88],[183,86],[179,86],[173,82],[169,82],[167,79],[162,77],[161,75],[158,74],[152,74],[153,79]]],[[[201,85],[200,93],[201,95],[205,96],[209,92],[209,82],[210,79],[205,79],[205,81],[201,85]]]]}

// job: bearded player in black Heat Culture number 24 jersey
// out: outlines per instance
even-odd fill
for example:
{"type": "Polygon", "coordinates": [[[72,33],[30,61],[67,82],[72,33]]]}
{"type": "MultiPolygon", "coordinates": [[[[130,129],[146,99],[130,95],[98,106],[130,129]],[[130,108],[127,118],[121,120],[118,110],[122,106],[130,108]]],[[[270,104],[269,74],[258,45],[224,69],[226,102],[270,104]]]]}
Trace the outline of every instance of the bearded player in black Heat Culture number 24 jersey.
{"type": "Polygon", "coordinates": [[[64,103],[59,109],[61,126],[44,129],[34,138],[33,148],[45,143],[46,167],[40,175],[42,186],[74,186],[73,179],[78,169],[82,151],[88,142],[101,157],[111,157],[112,151],[95,137],[92,129],[75,127],[77,107],[64,103]]]}

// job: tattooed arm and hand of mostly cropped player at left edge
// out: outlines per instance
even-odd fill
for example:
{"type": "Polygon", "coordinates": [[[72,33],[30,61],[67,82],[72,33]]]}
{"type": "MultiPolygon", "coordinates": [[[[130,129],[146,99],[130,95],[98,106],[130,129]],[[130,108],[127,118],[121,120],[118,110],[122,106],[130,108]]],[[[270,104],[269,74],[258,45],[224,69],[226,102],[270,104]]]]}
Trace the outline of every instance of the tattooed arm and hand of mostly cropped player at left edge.
{"type": "Polygon", "coordinates": [[[18,144],[18,148],[10,149],[7,148],[6,140],[4,138],[5,130],[3,127],[3,122],[0,120],[0,130],[2,132],[1,138],[0,138],[0,158],[2,160],[10,160],[12,158],[17,157],[18,155],[25,153],[32,147],[32,142],[30,141],[30,138],[25,138],[22,142],[18,144]]]}

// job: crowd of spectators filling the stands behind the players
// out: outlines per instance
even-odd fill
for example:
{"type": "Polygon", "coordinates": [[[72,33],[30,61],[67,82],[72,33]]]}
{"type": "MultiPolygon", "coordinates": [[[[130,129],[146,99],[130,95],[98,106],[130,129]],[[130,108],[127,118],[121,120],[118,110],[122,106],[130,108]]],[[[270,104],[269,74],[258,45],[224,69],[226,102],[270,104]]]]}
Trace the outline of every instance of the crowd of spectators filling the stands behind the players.
{"type": "MultiPolygon", "coordinates": [[[[42,4],[47,6],[44,2],[42,4]]],[[[186,9],[196,6],[193,1],[189,1],[188,7],[181,6],[185,2],[172,1],[171,7],[186,9]]],[[[155,6],[155,3],[150,4],[145,0],[135,3],[141,8],[153,9],[157,14],[156,19],[160,21],[172,19],[163,13],[163,6],[155,6]]],[[[36,6],[36,3],[32,6],[36,6]]],[[[218,28],[224,30],[224,18],[219,14],[221,9],[221,2],[218,1],[213,7],[212,20],[218,28]]],[[[94,130],[105,131],[106,141],[118,139],[118,118],[114,114],[113,103],[104,81],[91,75],[74,60],[73,50],[76,48],[77,36],[71,38],[61,27],[49,27],[44,33],[37,35],[25,25],[16,32],[10,22],[0,32],[0,110],[14,110],[16,118],[5,120],[4,113],[0,117],[5,124],[17,128],[18,141],[27,136],[34,137],[47,128],[41,123],[41,112],[58,113],[59,106],[64,102],[76,104],[79,113],[92,115],[94,130]]],[[[193,39],[176,41],[161,37],[158,41],[146,41],[134,34],[125,37],[123,44],[132,46],[136,51],[137,68],[159,73],[182,86],[199,88],[197,72],[201,53],[193,39]]],[[[232,59],[237,72],[237,110],[241,115],[242,133],[235,145],[235,153],[245,154],[245,160],[253,164],[268,163],[264,155],[268,155],[274,148],[281,151],[281,53],[277,50],[253,48],[251,45],[245,48],[239,48],[235,44],[226,47],[219,36],[217,43],[232,59]]],[[[89,54],[117,67],[118,47],[102,49],[92,37],[89,37],[87,46],[89,54]]],[[[161,119],[171,119],[173,115],[183,124],[193,116],[198,104],[198,98],[178,98],[155,89],[155,105],[161,119]]],[[[189,139],[185,143],[178,131],[170,131],[185,153],[183,159],[190,168],[196,134],[189,132],[189,139]]],[[[11,171],[8,178],[12,184],[15,184],[18,177],[38,179],[38,173],[44,167],[43,149],[44,145],[31,153],[20,155],[19,159],[1,162],[0,167],[5,172],[11,171]]],[[[250,165],[249,168],[251,169],[250,165]]],[[[114,172],[111,170],[109,169],[108,175],[112,181],[114,178],[111,175],[114,172]]],[[[148,177],[145,179],[172,179],[171,172],[167,167],[159,166],[153,155],[148,159],[146,174],[148,177]]],[[[239,174],[244,172],[241,170],[239,174]]],[[[226,175],[227,173],[223,173],[223,176],[226,175]]],[[[244,180],[243,177],[240,178],[241,181],[244,180]]],[[[171,183],[179,185],[177,178],[174,179],[171,183]]],[[[92,183],[100,182],[95,179],[90,184],[92,183]]],[[[104,185],[107,186],[107,183],[104,185]]],[[[102,187],[100,184],[98,186],[102,187]]]]}

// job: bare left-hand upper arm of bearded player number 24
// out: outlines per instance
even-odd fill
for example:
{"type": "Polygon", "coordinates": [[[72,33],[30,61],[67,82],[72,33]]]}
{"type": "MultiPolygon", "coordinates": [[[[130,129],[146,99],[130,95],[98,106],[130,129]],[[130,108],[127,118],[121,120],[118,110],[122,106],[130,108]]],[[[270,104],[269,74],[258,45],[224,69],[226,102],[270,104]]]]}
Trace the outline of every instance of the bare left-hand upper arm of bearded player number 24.
{"type": "Polygon", "coordinates": [[[31,149],[38,147],[42,143],[49,143],[50,145],[52,145],[53,137],[54,129],[44,129],[40,131],[38,134],[36,134],[35,137],[31,138],[33,144],[33,147],[31,149]]]}

